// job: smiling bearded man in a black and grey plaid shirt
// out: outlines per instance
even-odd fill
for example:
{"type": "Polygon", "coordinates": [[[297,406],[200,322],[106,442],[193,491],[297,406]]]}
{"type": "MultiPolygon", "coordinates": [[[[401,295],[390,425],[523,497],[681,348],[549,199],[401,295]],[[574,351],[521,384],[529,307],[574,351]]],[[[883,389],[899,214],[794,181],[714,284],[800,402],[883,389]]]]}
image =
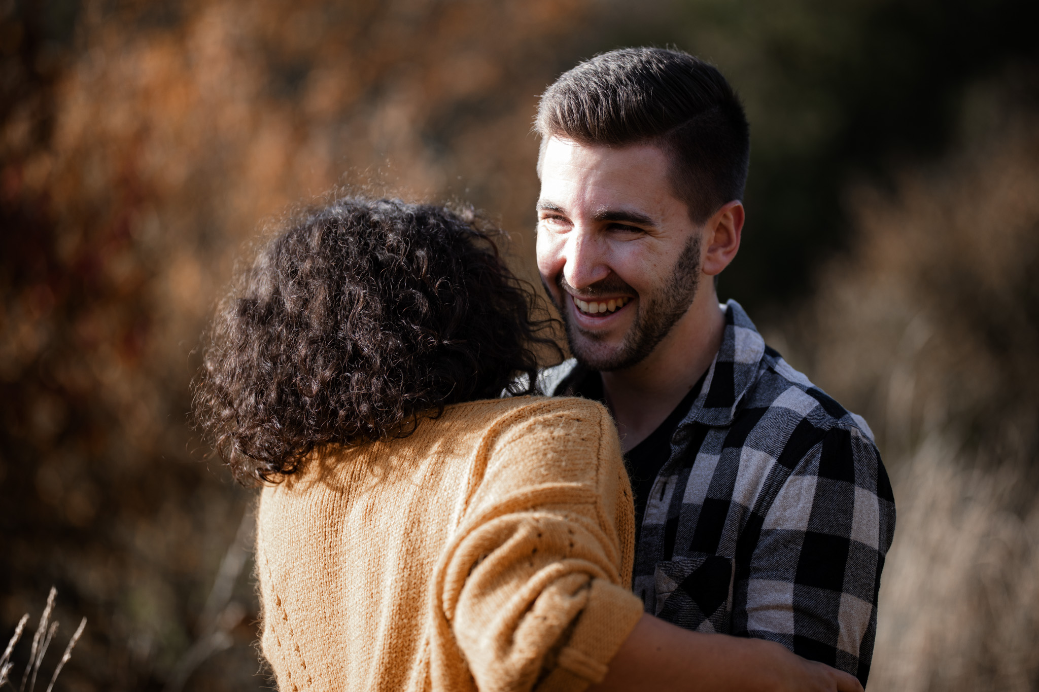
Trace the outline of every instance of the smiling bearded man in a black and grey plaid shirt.
{"type": "Polygon", "coordinates": [[[538,269],[575,356],[542,388],[613,413],[646,611],[864,685],[894,498],[865,421],[718,303],[744,222],[737,95],[686,53],[612,51],[545,90],[536,130],[538,269]]]}

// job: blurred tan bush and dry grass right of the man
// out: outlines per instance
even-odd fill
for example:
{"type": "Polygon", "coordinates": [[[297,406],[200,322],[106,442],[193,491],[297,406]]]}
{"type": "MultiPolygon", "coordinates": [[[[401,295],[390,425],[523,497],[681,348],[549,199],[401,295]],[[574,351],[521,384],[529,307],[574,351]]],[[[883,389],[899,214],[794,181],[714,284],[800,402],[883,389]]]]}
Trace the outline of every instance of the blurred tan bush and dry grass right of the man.
{"type": "Polygon", "coordinates": [[[891,471],[875,690],[1039,689],[1039,120],[1001,106],[853,196],[858,242],[775,334],[891,471]]]}

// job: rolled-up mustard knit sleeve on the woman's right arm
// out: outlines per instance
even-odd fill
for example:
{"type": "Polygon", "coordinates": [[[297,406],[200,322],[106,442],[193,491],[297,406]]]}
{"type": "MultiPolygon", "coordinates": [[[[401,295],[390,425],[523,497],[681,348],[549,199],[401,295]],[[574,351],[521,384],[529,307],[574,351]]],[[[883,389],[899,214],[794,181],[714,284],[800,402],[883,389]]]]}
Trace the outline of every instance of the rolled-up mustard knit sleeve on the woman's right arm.
{"type": "Polygon", "coordinates": [[[503,427],[438,568],[442,635],[480,690],[581,690],[642,614],[616,432],[597,405],[559,399],[503,427]]]}

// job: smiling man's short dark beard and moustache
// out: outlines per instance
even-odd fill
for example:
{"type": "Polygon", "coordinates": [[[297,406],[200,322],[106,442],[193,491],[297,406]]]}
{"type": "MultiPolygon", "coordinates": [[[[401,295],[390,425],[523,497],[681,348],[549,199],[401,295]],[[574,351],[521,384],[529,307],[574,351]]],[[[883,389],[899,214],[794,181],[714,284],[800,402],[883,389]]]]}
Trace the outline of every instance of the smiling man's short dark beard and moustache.
{"type": "MultiPolygon", "coordinates": [[[[641,296],[637,303],[638,311],[635,313],[635,321],[628,333],[624,334],[620,348],[612,354],[598,354],[594,349],[588,349],[582,343],[581,337],[589,341],[602,342],[604,336],[594,332],[586,332],[574,324],[569,310],[565,305],[557,305],[559,313],[563,316],[566,325],[566,340],[570,347],[570,353],[582,365],[593,370],[622,370],[642,362],[646,356],[652,353],[657,344],[668,335],[675,323],[689,310],[696,297],[696,289],[700,281],[700,237],[693,233],[682,249],[674,270],[667,283],[657,295],[641,296]]],[[[582,296],[594,298],[595,296],[616,296],[638,295],[627,282],[619,277],[611,277],[597,281],[584,290],[577,290],[568,286],[562,272],[556,279],[562,300],[568,298],[567,288],[582,296]]],[[[549,292],[551,296],[551,292],[549,292]]],[[[576,308],[575,308],[576,309],[576,308]]]]}

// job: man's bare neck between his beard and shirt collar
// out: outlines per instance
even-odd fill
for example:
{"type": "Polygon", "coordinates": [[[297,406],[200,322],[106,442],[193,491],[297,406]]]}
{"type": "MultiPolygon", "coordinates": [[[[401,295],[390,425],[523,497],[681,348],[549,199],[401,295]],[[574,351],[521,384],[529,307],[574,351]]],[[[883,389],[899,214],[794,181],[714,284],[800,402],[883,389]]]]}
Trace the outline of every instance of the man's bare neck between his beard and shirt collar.
{"type": "Polygon", "coordinates": [[[697,294],[686,314],[642,362],[602,373],[606,402],[625,452],[664,422],[711,367],[721,348],[725,313],[714,286],[708,285],[710,288],[697,294]]]}

